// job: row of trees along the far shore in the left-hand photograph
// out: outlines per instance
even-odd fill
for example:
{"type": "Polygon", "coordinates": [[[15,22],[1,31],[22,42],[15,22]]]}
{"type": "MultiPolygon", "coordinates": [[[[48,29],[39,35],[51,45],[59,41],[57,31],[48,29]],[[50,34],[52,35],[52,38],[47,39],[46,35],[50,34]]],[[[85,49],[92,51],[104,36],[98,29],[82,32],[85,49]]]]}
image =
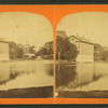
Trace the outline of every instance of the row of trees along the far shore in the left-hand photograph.
{"type": "MultiPolygon", "coordinates": [[[[9,43],[11,58],[36,58],[37,56],[50,57],[53,55],[53,41],[46,42],[43,46],[36,52],[35,45],[17,44],[15,42],[9,43]]],[[[53,56],[52,56],[53,58],[53,56]]]]}

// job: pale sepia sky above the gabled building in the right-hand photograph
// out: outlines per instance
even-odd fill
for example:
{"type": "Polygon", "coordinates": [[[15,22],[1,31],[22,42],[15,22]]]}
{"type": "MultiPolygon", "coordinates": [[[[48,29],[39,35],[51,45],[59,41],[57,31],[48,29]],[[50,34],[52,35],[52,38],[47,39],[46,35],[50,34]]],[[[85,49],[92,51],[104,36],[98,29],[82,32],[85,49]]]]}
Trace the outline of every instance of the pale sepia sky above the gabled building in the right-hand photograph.
{"type": "Polygon", "coordinates": [[[62,18],[56,30],[65,30],[67,36],[78,35],[91,42],[108,46],[108,13],[81,12],[62,18]]]}

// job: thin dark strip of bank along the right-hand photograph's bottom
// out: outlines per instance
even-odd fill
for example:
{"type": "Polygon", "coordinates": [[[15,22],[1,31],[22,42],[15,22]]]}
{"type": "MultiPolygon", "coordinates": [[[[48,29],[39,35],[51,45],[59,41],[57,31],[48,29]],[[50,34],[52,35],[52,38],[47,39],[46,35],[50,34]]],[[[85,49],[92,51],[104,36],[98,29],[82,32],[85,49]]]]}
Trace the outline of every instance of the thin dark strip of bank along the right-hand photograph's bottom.
{"type": "Polygon", "coordinates": [[[60,98],[108,98],[108,91],[90,91],[90,92],[70,92],[60,91],[58,96],[60,98]]]}

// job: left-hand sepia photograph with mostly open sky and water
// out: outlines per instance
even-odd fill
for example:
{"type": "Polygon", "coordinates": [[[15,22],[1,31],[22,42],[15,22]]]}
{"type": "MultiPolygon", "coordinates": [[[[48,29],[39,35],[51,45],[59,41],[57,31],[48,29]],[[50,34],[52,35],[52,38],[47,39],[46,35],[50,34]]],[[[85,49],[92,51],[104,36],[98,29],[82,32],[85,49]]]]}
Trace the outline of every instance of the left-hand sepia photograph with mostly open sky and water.
{"type": "Polygon", "coordinates": [[[0,98],[53,97],[53,27],[28,12],[0,13],[0,98]]]}

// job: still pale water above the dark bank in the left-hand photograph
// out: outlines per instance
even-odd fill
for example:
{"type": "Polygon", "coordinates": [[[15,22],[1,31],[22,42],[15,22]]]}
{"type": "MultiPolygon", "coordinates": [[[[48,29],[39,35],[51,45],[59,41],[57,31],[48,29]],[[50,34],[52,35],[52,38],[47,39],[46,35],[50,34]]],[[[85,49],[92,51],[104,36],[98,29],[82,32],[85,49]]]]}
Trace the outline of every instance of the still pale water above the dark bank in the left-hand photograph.
{"type": "Polygon", "coordinates": [[[53,60],[0,63],[0,90],[53,86],[53,60]]]}

